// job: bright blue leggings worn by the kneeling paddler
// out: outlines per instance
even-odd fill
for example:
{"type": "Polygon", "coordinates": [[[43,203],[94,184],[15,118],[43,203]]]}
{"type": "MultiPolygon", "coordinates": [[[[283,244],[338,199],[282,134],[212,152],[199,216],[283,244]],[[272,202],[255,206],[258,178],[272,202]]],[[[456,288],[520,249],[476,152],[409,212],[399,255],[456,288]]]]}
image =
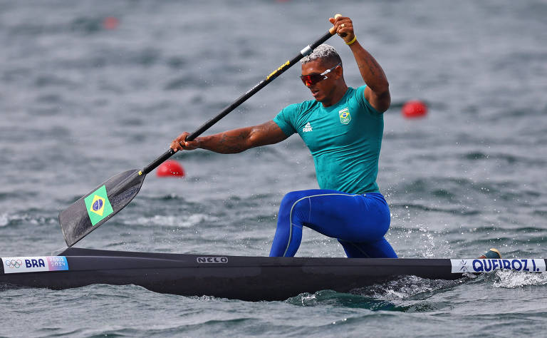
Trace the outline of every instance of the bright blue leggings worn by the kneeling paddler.
{"type": "Polygon", "coordinates": [[[288,193],[279,206],[270,257],[293,257],[303,226],[338,239],[348,257],[397,258],[384,238],[390,209],[380,193],[351,195],[324,189],[288,193]]]}

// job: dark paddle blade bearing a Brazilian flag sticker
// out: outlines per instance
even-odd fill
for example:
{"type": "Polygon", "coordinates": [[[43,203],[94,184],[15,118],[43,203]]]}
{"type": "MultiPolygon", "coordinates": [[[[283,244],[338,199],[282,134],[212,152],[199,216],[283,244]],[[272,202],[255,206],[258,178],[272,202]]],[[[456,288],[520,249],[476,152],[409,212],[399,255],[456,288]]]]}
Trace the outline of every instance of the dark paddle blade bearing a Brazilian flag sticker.
{"type": "Polygon", "coordinates": [[[66,245],[71,247],[125,208],[139,193],[145,174],[127,170],[110,178],[95,190],[59,213],[66,245]]]}

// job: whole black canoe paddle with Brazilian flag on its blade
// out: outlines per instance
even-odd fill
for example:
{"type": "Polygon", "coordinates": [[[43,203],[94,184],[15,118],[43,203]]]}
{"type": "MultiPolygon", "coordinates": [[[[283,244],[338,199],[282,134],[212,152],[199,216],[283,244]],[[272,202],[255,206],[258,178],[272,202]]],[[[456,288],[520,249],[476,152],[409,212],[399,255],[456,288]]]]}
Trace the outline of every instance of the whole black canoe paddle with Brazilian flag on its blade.
{"type": "MultiPolygon", "coordinates": [[[[340,16],[340,14],[336,14],[335,18],[338,16],[340,16]]],[[[286,63],[283,63],[275,71],[272,71],[269,76],[266,76],[264,80],[251,88],[251,90],[240,96],[234,103],[231,103],[231,105],[224,108],[219,115],[214,116],[214,118],[211,118],[201,127],[197,128],[194,133],[187,137],[187,140],[194,140],[194,138],[197,138],[205,130],[209,129],[221,118],[224,118],[224,116],[228,115],[228,113],[237,108],[237,106],[244,103],[248,98],[260,91],[268,83],[273,81],[273,79],[280,76],[284,71],[300,61],[301,58],[311,53],[313,49],[327,41],[330,36],[333,36],[334,34],[335,30],[334,27],[332,27],[327,33],[321,36],[321,38],[311,43],[311,45],[306,46],[306,48],[303,48],[297,56],[286,61],[286,63]]],[[[66,210],[61,211],[61,213],[59,213],[59,222],[61,223],[61,230],[63,230],[63,235],[68,247],[74,245],[88,235],[88,233],[109,220],[110,217],[113,217],[116,213],[125,208],[125,205],[129,204],[137,193],[139,193],[147,173],[150,173],[157,168],[158,165],[170,158],[173,154],[174,150],[169,149],[163,153],[163,155],[156,158],[154,162],[141,170],[132,169],[115,175],[105,183],[101,183],[87,195],[84,195],[66,210]]]]}

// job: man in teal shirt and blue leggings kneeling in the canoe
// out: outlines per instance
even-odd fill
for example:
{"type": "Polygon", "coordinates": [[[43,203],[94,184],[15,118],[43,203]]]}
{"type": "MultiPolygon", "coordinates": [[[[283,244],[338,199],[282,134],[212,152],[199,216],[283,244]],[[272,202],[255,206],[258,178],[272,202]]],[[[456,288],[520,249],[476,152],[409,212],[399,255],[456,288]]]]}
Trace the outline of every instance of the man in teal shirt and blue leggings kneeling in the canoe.
{"type": "Polygon", "coordinates": [[[294,256],[306,226],[337,238],[348,257],[397,257],[384,238],[390,210],[376,184],[389,84],[375,58],[357,41],[351,19],[329,21],[353,52],[365,86],[348,88],[340,56],[323,44],[301,60],[301,80],[315,100],[287,106],[259,126],[192,141],[186,140],[189,133],[182,133],[171,148],[240,153],[298,133],[311,150],[321,189],[285,195],[270,256],[294,256]]]}

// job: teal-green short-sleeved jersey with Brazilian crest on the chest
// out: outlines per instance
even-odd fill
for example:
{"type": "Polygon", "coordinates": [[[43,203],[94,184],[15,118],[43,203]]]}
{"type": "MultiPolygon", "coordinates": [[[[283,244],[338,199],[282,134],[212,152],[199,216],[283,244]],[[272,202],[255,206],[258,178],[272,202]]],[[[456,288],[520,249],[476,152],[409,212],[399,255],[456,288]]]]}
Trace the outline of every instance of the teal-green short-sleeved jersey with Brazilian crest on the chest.
{"type": "Polygon", "coordinates": [[[298,133],[313,155],[319,188],[378,193],[376,177],[384,119],[365,99],[366,86],[348,88],[330,107],[310,100],[273,118],[287,136],[298,133]]]}

